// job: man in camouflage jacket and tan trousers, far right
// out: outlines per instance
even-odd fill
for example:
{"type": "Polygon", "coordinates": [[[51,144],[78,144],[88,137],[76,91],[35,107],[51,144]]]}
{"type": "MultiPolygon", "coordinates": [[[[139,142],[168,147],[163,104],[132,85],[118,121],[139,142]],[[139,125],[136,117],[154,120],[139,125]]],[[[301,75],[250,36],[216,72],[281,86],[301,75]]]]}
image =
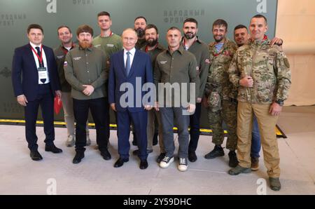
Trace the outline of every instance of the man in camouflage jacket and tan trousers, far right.
{"type": "Polygon", "coordinates": [[[251,172],[251,129],[253,114],[258,119],[264,161],[270,188],[281,189],[280,158],[274,127],[281,113],[283,101],[290,88],[290,65],[279,46],[271,46],[265,36],[267,19],[255,15],[249,30],[251,40],[241,46],[232,60],[230,81],[238,88],[237,159],[239,165],[230,175],[251,172]]]}

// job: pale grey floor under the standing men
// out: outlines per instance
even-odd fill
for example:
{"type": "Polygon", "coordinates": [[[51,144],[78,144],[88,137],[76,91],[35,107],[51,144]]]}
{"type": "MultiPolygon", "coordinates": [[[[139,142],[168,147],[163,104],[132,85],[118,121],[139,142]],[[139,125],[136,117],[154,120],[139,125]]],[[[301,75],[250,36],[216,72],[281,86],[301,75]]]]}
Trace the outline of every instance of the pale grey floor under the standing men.
{"type": "Polygon", "coordinates": [[[146,170],[139,169],[134,156],[122,168],[113,168],[118,158],[115,131],[111,132],[111,161],[104,161],[93,149],[95,130],[91,130],[92,146],[85,151],[85,159],[73,165],[74,149],[64,146],[66,129],[56,128],[55,144],[63,153],[52,154],[43,150],[43,128],[37,128],[43,161],[31,161],[24,127],[1,125],[0,194],[315,194],[315,107],[285,107],[278,124],[288,138],[279,139],[282,189],[277,192],[264,187],[267,174],[262,160],[257,172],[230,176],[228,151],[224,157],[204,159],[214,147],[209,136],[200,138],[197,162],[181,173],[177,161],[166,169],[158,167],[158,146],[149,155],[146,170]]]}

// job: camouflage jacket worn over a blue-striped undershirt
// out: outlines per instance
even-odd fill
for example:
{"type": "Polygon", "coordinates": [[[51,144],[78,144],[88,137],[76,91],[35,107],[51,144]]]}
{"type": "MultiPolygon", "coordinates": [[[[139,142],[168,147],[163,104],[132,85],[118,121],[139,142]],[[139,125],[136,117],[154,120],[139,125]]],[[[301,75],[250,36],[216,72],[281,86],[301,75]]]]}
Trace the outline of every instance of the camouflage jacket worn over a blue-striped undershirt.
{"type": "Polygon", "coordinates": [[[237,45],[225,38],[224,45],[220,51],[216,50],[216,42],[209,44],[210,68],[205,95],[208,96],[213,90],[211,86],[218,86],[221,100],[236,99],[237,88],[229,80],[228,69],[237,45]]]}

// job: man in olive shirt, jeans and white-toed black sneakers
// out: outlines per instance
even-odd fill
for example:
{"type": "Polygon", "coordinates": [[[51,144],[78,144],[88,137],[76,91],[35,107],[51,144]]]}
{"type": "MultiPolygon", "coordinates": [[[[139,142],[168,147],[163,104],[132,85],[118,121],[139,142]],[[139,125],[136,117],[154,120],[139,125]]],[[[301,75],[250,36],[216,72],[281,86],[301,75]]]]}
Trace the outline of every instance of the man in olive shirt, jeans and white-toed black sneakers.
{"type": "Polygon", "coordinates": [[[188,169],[189,115],[195,112],[199,76],[195,55],[181,46],[181,30],[171,27],[167,31],[169,48],[158,55],[155,62],[154,82],[158,89],[155,109],[160,111],[165,157],[161,168],[167,168],[174,161],[174,122],[179,133],[179,171],[188,169]],[[167,85],[168,84],[168,85],[167,85]],[[159,86],[164,88],[159,89],[159,86]],[[175,87],[178,86],[179,89],[175,87]],[[195,88],[194,88],[195,87],[195,88]],[[185,90],[183,90],[185,89],[185,90]],[[183,91],[182,91],[183,90],[183,91]],[[186,102],[185,102],[186,101],[186,102]]]}

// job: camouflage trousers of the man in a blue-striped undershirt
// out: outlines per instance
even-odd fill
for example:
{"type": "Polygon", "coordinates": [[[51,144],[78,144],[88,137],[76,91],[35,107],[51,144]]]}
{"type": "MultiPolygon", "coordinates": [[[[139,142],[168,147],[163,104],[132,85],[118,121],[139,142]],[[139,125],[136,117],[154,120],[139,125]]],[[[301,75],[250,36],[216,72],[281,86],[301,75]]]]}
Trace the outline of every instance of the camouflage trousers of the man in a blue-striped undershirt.
{"type": "Polygon", "coordinates": [[[228,140],[226,148],[232,151],[237,149],[237,102],[221,100],[222,109],[212,112],[208,109],[208,121],[212,130],[212,142],[216,145],[223,144],[223,121],[228,126],[228,140]]]}

